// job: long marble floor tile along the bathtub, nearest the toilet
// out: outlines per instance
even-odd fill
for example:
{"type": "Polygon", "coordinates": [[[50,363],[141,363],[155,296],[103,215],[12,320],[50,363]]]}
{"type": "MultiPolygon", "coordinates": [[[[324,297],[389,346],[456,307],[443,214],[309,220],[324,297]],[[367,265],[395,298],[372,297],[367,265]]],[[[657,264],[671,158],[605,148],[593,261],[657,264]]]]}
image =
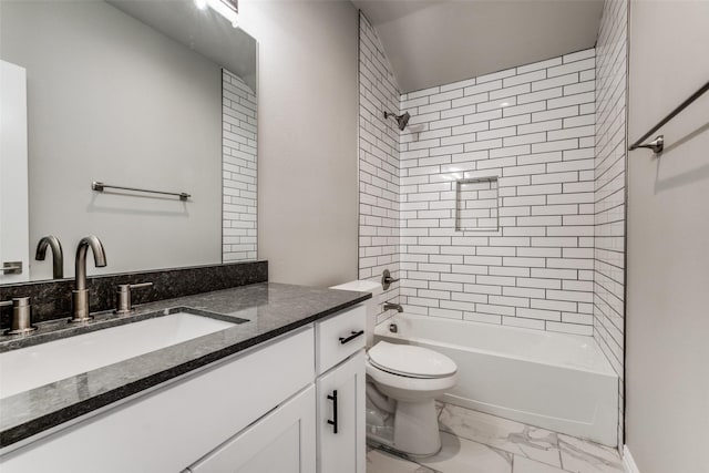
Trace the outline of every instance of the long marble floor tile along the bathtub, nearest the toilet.
{"type": "Polygon", "coordinates": [[[445,404],[439,417],[442,431],[463,439],[561,467],[555,432],[445,404]]]}

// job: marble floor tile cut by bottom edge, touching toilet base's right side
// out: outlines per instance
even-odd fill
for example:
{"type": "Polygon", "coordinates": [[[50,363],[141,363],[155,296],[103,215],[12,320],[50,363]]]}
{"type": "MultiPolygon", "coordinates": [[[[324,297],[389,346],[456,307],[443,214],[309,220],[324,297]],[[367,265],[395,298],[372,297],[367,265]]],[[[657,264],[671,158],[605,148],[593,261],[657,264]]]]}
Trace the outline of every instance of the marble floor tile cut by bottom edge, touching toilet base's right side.
{"type": "Polygon", "coordinates": [[[512,473],[508,452],[446,432],[441,432],[441,452],[435,456],[417,461],[443,473],[512,473]]]}

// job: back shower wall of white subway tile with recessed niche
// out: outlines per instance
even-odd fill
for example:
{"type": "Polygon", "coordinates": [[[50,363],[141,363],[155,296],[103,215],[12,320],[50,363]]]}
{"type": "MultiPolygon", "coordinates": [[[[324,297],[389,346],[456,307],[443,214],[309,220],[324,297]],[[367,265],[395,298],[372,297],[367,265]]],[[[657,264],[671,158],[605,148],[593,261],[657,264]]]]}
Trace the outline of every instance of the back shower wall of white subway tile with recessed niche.
{"type": "Polygon", "coordinates": [[[401,95],[407,311],[594,333],[595,64],[589,49],[401,95]],[[499,229],[456,230],[456,181],[486,177],[499,229]]]}

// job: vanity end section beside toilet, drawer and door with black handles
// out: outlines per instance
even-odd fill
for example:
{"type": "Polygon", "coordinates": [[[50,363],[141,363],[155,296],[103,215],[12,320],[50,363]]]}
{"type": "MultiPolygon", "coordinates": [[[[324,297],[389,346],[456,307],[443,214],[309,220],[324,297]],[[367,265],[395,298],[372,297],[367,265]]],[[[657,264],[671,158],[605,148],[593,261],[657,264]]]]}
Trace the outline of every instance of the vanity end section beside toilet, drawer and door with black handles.
{"type": "Polygon", "coordinates": [[[364,322],[357,307],[316,323],[318,473],[366,470],[364,322]]]}

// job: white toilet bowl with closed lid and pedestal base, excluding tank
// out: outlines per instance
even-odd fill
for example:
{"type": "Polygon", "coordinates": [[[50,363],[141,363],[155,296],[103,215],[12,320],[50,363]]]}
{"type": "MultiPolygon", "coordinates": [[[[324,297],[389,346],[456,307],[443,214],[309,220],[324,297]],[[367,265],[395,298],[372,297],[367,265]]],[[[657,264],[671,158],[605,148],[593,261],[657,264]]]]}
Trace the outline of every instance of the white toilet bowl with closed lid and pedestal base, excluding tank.
{"type": "MultiPolygon", "coordinates": [[[[394,401],[388,404],[393,404],[391,436],[372,440],[410,455],[438,453],[441,435],[435,397],[455,385],[458,368],[453,360],[427,348],[380,341],[368,351],[366,369],[372,381],[367,385],[368,400],[373,400],[374,390],[394,401]]],[[[370,410],[377,408],[381,411],[370,402],[370,410]]]]}

